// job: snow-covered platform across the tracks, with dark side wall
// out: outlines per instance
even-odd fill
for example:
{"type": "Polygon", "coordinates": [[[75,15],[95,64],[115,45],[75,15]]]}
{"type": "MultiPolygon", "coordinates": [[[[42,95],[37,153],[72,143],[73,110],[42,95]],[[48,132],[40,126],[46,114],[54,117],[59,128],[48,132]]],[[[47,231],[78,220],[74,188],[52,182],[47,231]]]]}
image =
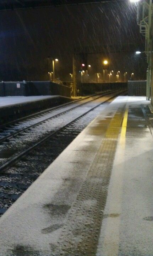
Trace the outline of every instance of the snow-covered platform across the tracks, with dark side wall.
{"type": "Polygon", "coordinates": [[[60,95],[0,97],[0,124],[71,101],[60,95]]]}

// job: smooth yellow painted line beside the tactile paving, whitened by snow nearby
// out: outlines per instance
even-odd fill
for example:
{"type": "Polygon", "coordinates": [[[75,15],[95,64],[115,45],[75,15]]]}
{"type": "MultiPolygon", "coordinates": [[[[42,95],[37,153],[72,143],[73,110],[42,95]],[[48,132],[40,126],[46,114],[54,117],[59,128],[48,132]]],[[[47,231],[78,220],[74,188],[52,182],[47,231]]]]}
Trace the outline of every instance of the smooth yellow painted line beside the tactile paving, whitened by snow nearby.
{"type": "Polygon", "coordinates": [[[120,225],[121,219],[120,214],[122,213],[122,172],[124,170],[124,157],[125,157],[125,141],[126,141],[126,127],[128,118],[129,107],[126,107],[124,112],[124,118],[122,122],[122,128],[120,133],[118,150],[120,148],[120,154],[116,156],[115,172],[113,175],[113,185],[110,188],[109,193],[111,194],[111,201],[109,202],[109,214],[119,214],[116,218],[106,218],[104,225],[104,242],[101,251],[97,256],[118,256],[119,255],[119,244],[120,244],[120,225]],[[121,161],[122,159],[122,161],[121,161]],[[118,168],[118,164],[120,168],[118,168]],[[122,167],[121,167],[122,166],[122,167]]]}

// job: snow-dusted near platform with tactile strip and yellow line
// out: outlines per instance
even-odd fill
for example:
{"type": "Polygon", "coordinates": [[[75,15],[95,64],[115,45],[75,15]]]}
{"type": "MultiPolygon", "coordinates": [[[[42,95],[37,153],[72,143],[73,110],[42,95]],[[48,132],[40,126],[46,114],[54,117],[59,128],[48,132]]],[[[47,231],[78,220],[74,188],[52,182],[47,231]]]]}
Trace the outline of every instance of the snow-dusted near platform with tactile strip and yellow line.
{"type": "Polygon", "coordinates": [[[0,256],[152,256],[153,114],[119,96],[0,218],[0,256]]]}

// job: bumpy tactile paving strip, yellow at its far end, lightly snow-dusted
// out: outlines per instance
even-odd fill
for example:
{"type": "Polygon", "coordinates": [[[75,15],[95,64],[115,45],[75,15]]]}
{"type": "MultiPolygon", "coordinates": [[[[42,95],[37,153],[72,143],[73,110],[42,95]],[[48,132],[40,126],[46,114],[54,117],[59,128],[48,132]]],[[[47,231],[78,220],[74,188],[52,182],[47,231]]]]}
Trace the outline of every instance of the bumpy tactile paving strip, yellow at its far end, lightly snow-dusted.
{"type": "Polygon", "coordinates": [[[52,255],[95,256],[123,113],[112,118],[52,255]]]}

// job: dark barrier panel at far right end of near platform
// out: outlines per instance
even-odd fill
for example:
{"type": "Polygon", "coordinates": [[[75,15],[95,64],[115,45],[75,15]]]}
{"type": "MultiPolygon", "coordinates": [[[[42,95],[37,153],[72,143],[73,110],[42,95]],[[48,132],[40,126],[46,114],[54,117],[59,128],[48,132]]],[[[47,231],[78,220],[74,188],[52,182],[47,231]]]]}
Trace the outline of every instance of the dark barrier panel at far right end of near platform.
{"type": "Polygon", "coordinates": [[[128,96],[146,96],[147,81],[128,81],[128,96]]]}

